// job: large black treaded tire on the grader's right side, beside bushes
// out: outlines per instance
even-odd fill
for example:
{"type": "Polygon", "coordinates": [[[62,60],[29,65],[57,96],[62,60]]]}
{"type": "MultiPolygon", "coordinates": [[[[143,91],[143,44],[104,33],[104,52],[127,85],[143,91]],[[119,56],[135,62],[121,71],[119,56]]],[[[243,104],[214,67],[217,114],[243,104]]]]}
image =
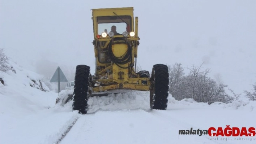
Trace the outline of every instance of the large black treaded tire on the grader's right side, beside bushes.
{"type": "Polygon", "coordinates": [[[163,64],[153,66],[150,88],[150,108],[166,110],[168,103],[169,72],[163,64]]]}

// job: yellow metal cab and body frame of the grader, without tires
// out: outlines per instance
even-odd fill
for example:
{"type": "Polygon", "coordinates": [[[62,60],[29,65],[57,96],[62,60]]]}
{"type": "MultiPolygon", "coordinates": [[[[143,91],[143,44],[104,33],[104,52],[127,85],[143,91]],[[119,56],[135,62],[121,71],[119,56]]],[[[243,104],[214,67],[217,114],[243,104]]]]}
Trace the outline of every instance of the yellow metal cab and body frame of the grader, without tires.
{"type": "Polygon", "coordinates": [[[140,38],[138,37],[138,17],[135,17],[134,20],[133,7],[92,9],[92,19],[94,30],[95,74],[91,79],[90,92],[103,92],[116,89],[149,91],[150,78],[140,78],[136,73],[138,40],[140,40],[140,38]],[[130,16],[130,30],[135,32],[135,35],[128,35],[127,37],[123,35],[115,35],[113,37],[109,35],[106,37],[99,35],[97,20],[98,17],[102,16],[130,16]],[[119,42],[120,40],[118,40],[118,38],[121,38],[121,41],[125,41],[125,43],[119,42]],[[103,52],[104,49],[106,50],[110,44],[112,53],[116,57],[123,56],[130,48],[131,61],[121,65],[117,65],[112,61],[108,63],[99,62],[99,52],[103,52]]]}

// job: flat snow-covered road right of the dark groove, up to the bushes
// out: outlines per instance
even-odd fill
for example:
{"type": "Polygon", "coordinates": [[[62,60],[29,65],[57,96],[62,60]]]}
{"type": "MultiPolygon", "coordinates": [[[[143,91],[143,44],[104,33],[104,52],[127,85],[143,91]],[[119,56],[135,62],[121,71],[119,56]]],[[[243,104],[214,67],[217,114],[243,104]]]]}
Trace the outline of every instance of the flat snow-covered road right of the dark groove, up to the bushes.
{"type": "Polygon", "coordinates": [[[211,140],[208,135],[179,135],[179,130],[189,130],[191,127],[196,130],[208,130],[209,127],[225,128],[226,125],[255,126],[255,116],[250,108],[235,110],[232,106],[209,106],[191,100],[169,104],[166,111],[111,110],[82,115],[61,144],[256,143],[256,140],[242,141],[234,138],[220,140],[221,137],[218,140],[211,140]]]}

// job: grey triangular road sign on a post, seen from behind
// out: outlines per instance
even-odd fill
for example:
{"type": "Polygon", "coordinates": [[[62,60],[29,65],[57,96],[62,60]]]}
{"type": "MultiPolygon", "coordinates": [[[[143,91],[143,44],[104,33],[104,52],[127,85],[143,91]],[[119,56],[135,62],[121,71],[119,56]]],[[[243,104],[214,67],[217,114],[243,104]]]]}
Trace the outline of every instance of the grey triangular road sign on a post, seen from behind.
{"type": "Polygon", "coordinates": [[[60,67],[58,66],[58,68],[56,69],[54,75],[52,76],[52,79],[50,80],[50,82],[57,82],[58,83],[58,95],[60,92],[60,82],[68,82],[67,78],[65,77],[65,75],[63,74],[62,70],[60,69],[60,67]]]}

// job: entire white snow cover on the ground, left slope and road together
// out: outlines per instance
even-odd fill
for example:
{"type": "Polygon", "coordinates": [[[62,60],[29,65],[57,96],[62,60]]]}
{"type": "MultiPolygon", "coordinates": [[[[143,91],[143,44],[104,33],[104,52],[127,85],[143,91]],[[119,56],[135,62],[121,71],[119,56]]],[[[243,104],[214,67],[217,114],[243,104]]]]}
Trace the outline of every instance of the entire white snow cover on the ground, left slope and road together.
{"type": "MultiPolygon", "coordinates": [[[[207,135],[178,135],[179,130],[209,127],[256,127],[256,102],[176,101],[167,110],[149,110],[149,92],[129,91],[90,97],[86,115],[72,112],[72,101],[55,105],[57,93],[37,89],[40,75],[12,64],[0,73],[0,143],[2,144],[254,144],[256,140],[210,140],[207,135]],[[35,83],[32,80],[35,81],[35,83]],[[31,87],[32,85],[34,87],[31,87]]],[[[42,84],[43,85],[43,84],[42,84]]],[[[42,87],[47,90],[47,87],[42,87]]],[[[63,91],[60,96],[70,91],[63,91]]],[[[255,138],[254,136],[253,138],[255,138]]],[[[225,137],[226,138],[226,137],[225,137]]],[[[251,137],[250,137],[251,138],[251,137]]]]}

